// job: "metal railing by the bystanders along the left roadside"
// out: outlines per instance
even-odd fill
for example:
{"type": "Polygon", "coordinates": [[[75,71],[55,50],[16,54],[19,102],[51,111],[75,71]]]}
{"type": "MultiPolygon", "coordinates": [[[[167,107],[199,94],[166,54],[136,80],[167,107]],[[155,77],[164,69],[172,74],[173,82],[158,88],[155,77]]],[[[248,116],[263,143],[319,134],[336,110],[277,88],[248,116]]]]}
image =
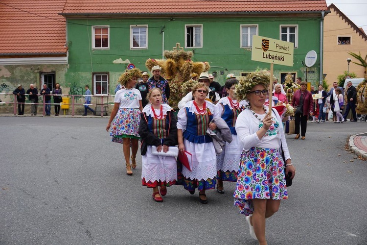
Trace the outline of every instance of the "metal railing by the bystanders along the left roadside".
{"type": "MultiPolygon", "coordinates": [[[[24,94],[25,96],[30,96],[29,94],[24,94]]],[[[63,100],[65,100],[65,98],[69,98],[69,103],[66,102],[60,102],[60,103],[46,103],[46,96],[50,96],[51,98],[54,97],[54,95],[40,95],[38,94],[38,97],[42,97],[43,101],[42,102],[38,102],[38,103],[34,103],[34,102],[18,102],[17,100],[17,95],[14,95],[13,93],[0,93],[0,105],[1,104],[9,104],[9,105],[13,105],[13,113],[14,115],[17,115],[17,106],[19,104],[37,104],[37,105],[42,105],[43,106],[43,115],[46,115],[46,105],[60,105],[61,109],[64,109],[64,114],[66,114],[66,110],[69,110],[71,107],[71,116],[75,116],[75,111],[76,111],[76,106],[83,106],[83,110],[84,110],[84,106],[95,106],[95,110],[97,110],[97,108],[100,108],[100,116],[107,116],[108,115],[108,107],[109,106],[114,106],[114,102],[109,102],[109,98],[114,98],[114,95],[55,95],[55,96],[61,96],[62,98],[64,98],[63,100]],[[13,96],[14,99],[13,101],[3,101],[5,99],[1,99],[2,96],[13,96]],[[86,104],[86,103],[78,103],[79,98],[82,98],[82,101],[85,102],[85,97],[92,97],[92,99],[95,99],[95,103],[90,103],[90,104],[86,104]],[[71,101],[70,101],[71,100],[71,101]],[[105,102],[106,101],[106,102],[105,102]],[[104,115],[106,114],[106,115],[104,115]]],[[[7,99],[9,100],[9,99],[7,99]]],[[[12,99],[10,99],[12,100],[12,99]]],[[[27,100],[27,99],[26,99],[27,100]]],[[[114,99],[112,100],[114,101],[114,99]]],[[[50,108],[51,110],[51,108],[50,108]]],[[[98,113],[99,115],[99,113],[98,113]]]]}

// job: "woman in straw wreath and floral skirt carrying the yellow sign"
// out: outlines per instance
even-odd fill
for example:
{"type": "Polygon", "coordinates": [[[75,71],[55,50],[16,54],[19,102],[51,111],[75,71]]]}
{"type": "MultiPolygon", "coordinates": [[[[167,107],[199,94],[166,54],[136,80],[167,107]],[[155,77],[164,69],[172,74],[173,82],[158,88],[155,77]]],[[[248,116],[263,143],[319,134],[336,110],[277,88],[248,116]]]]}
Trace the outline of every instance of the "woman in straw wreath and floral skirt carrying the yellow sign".
{"type": "Polygon", "coordinates": [[[237,99],[246,98],[249,106],[240,113],[235,127],[243,153],[234,204],[246,215],[250,235],[260,245],[267,244],[265,219],[278,211],[281,199],[288,198],[285,174],[295,176],[281,118],[276,110],[269,112],[264,106],[269,78],[265,71],[255,72],[236,86],[237,99]],[[285,163],[279,151],[281,145],[285,163]]]}

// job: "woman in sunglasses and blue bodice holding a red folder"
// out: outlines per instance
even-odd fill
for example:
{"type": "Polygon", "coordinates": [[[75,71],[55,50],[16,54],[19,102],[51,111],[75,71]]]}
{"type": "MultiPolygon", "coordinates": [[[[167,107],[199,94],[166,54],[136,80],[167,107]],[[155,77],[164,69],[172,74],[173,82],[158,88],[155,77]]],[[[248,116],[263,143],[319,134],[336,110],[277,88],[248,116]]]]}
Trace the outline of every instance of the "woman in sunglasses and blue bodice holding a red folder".
{"type": "Polygon", "coordinates": [[[213,118],[219,118],[218,108],[209,101],[206,95],[209,88],[204,83],[197,83],[192,88],[194,100],[188,101],[180,109],[177,117],[177,135],[180,151],[192,154],[192,170],[183,167],[184,188],[195,193],[199,190],[199,200],[206,204],[206,190],[214,189],[216,184],[216,154],[212,139],[206,134],[207,128],[215,130],[213,118]]]}

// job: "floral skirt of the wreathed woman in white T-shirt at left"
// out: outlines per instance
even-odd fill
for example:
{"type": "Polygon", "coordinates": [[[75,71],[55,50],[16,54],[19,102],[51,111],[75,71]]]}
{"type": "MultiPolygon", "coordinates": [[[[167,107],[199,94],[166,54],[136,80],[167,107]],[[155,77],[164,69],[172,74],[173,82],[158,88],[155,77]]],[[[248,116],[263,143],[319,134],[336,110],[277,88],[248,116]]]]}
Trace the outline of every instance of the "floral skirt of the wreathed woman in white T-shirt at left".
{"type": "Polygon", "coordinates": [[[119,108],[110,135],[112,142],[123,144],[123,138],[139,139],[140,110],[119,108]]]}

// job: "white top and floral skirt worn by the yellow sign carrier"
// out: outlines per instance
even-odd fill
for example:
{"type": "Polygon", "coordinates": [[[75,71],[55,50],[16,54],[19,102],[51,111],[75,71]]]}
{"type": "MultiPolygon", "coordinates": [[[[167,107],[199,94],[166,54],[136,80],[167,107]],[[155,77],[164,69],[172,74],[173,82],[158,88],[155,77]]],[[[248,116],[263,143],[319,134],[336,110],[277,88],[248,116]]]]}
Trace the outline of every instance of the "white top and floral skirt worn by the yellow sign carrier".
{"type": "MultiPolygon", "coordinates": [[[[234,205],[240,213],[249,216],[253,213],[252,199],[287,199],[284,162],[279,151],[280,139],[283,138],[283,126],[279,114],[273,110],[273,124],[260,140],[256,132],[263,125],[263,115],[254,114],[245,109],[237,118],[236,131],[240,135],[244,150],[241,155],[234,205]],[[257,116],[257,117],[256,117],[257,116]]],[[[283,143],[283,150],[289,156],[288,147],[283,143]]],[[[287,157],[286,159],[290,158],[287,157]]]]}

